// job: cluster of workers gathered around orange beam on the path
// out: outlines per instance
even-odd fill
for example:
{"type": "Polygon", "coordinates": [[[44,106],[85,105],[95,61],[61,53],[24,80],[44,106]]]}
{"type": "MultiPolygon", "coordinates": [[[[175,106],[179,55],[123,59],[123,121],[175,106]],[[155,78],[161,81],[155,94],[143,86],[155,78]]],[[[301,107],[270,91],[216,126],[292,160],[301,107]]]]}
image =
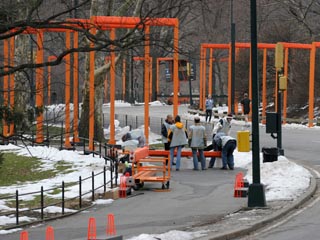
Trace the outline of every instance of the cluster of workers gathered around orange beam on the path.
{"type": "MultiPolygon", "coordinates": [[[[189,145],[193,156],[193,170],[199,170],[199,162],[201,169],[206,170],[205,150],[220,150],[222,151],[221,169],[234,169],[233,152],[237,147],[237,141],[229,136],[231,128],[232,116],[228,115],[218,121],[213,129],[212,145],[207,147],[206,129],[200,123],[200,118],[194,118],[194,124],[189,127],[189,130],[184,127],[179,115],[173,120],[172,115],[168,115],[165,122],[162,124],[161,134],[165,150],[170,150],[171,167],[176,165],[176,171],[180,170],[181,151],[185,145],[189,145]],[[174,163],[174,152],[177,149],[176,163],[174,163]]],[[[215,158],[212,157],[209,162],[209,168],[213,168],[215,158]]]]}

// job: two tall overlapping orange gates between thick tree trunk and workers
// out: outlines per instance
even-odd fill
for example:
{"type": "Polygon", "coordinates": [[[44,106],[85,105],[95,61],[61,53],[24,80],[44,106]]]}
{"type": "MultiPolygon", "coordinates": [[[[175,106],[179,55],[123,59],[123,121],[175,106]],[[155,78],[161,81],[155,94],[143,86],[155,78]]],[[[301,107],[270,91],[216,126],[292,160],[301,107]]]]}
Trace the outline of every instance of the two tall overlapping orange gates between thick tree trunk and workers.
{"type": "MultiPolygon", "coordinates": [[[[81,21],[87,23],[87,19],[75,19],[76,21],[81,21]]],[[[92,33],[96,29],[110,30],[110,39],[115,39],[115,29],[116,28],[135,28],[141,24],[141,19],[137,17],[115,17],[115,16],[93,16],[90,19],[90,23],[94,26],[91,29],[92,33]]],[[[91,26],[92,26],[91,25],[91,26]]],[[[176,18],[150,18],[145,22],[145,71],[144,71],[144,125],[145,125],[145,136],[148,141],[149,138],[149,82],[150,82],[150,44],[149,44],[149,34],[150,26],[169,26],[174,28],[174,43],[173,43],[173,57],[174,57],[174,89],[178,88],[178,37],[179,37],[179,22],[176,18]]],[[[91,47],[94,44],[91,43],[91,47]]],[[[114,46],[111,45],[111,50],[114,46]]],[[[94,52],[90,52],[90,97],[89,97],[89,150],[94,150],[93,137],[94,137],[94,52]]],[[[174,108],[173,114],[178,114],[178,91],[174,92],[174,108]]],[[[110,144],[115,143],[115,114],[114,114],[114,100],[115,100],[115,53],[111,51],[111,69],[110,69],[110,144]]]]}

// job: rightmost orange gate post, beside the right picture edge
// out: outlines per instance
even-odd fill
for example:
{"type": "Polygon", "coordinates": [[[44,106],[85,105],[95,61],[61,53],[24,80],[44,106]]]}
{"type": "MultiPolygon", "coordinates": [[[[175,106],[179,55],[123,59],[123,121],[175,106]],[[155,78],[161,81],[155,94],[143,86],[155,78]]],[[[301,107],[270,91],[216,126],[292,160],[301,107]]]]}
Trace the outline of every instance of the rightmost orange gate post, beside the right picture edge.
{"type": "Polygon", "coordinates": [[[309,121],[308,121],[309,127],[313,127],[313,118],[314,118],[315,67],[316,67],[316,44],[315,42],[313,42],[310,50],[310,71],[309,71],[309,121]]]}

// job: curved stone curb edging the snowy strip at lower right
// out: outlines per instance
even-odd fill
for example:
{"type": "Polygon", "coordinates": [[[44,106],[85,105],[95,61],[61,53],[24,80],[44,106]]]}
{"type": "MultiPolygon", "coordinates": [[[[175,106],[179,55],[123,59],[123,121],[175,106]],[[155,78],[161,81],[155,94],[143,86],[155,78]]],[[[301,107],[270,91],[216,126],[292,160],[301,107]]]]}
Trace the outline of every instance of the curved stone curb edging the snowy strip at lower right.
{"type": "Polygon", "coordinates": [[[266,226],[267,224],[270,224],[271,222],[278,220],[280,218],[285,217],[288,213],[293,211],[294,209],[298,208],[299,206],[303,205],[305,202],[307,202],[315,193],[317,190],[317,182],[316,182],[316,174],[313,169],[310,169],[309,167],[304,166],[312,175],[310,178],[310,186],[307,189],[305,193],[303,193],[298,199],[296,199],[292,204],[290,204],[288,207],[276,211],[276,213],[269,215],[268,217],[264,218],[263,220],[258,221],[257,223],[249,226],[249,227],[243,227],[238,229],[233,229],[230,231],[226,231],[220,234],[212,234],[210,236],[207,235],[204,238],[199,239],[206,239],[206,240],[227,240],[227,239],[234,239],[236,237],[242,237],[245,235],[248,235],[249,233],[252,233],[254,231],[257,231],[258,229],[261,229],[262,227],[266,226]]]}

